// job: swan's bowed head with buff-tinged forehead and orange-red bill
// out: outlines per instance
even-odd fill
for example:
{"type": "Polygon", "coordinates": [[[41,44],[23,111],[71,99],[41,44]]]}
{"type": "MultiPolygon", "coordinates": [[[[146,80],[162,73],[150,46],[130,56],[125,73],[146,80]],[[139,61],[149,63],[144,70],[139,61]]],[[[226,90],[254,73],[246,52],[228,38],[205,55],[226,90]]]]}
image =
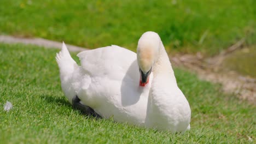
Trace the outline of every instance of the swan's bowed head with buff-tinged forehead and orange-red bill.
{"type": "Polygon", "coordinates": [[[146,86],[149,81],[149,75],[152,73],[152,67],[158,60],[160,37],[155,32],[146,32],[142,34],[138,41],[137,61],[141,79],[140,86],[146,86]]]}

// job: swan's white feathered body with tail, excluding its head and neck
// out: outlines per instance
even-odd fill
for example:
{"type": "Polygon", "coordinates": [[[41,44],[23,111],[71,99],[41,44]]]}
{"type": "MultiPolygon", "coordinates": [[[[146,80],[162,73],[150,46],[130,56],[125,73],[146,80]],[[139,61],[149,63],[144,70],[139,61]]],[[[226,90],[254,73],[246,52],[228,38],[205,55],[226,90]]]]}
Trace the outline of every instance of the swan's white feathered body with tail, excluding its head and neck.
{"type": "Polygon", "coordinates": [[[150,83],[139,87],[135,52],[115,45],[83,51],[77,55],[81,62],[79,67],[71,57],[67,57],[70,61],[61,60],[65,58],[61,55],[67,51],[65,44],[62,50],[59,63],[63,62],[63,67],[60,68],[72,65],[72,68],[67,67],[70,74],[61,73],[61,86],[70,103],[77,95],[80,103],[90,106],[102,117],[113,116],[117,122],[144,124],[150,83]]]}

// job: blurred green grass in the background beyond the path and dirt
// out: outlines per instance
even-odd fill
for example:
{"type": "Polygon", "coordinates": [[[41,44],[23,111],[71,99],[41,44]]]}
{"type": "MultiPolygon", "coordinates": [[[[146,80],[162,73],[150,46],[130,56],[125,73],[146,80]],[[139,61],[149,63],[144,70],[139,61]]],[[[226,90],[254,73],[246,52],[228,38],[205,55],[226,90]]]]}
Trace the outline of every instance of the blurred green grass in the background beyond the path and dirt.
{"type": "Polygon", "coordinates": [[[155,31],[168,50],[214,55],[242,38],[255,44],[255,7],[254,0],[2,0],[0,33],[135,50],[142,33],[155,31]]]}

